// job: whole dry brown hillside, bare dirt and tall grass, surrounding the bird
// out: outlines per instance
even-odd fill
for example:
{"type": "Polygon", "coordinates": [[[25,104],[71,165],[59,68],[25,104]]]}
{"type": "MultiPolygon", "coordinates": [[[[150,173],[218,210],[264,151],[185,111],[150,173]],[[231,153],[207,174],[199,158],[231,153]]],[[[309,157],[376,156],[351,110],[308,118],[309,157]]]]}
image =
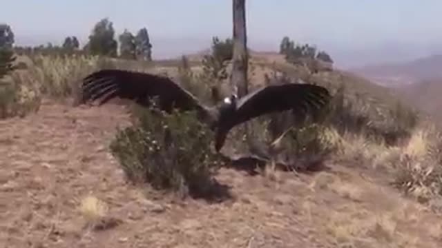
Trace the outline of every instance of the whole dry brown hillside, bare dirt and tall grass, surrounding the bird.
{"type": "MultiPolygon", "coordinates": [[[[0,121],[2,247],[442,245],[442,139],[430,122],[383,87],[345,72],[311,75],[281,60],[254,56],[251,85],[263,83],[265,74],[280,76],[274,73],[278,70],[285,72],[281,80],[315,81],[336,94],[326,121],[284,138],[288,152],[303,165],[322,166],[315,172],[302,166],[287,172],[269,163],[257,174],[221,167],[214,178],[224,198],[182,199],[129,183],[125,172],[135,167],[121,166],[122,157],[115,154],[127,146],[124,137],[115,136],[116,127],[131,126],[133,114],[118,104],[77,105],[77,82],[98,68],[167,72],[204,95],[203,83],[210,78],[200,64],[183,70],[171,61],[20,61],[23,69],[8,77],[13,84],[0,92],[0,114],[8,117],[0,121]]],[[[262,125],[253,121],[258,138],[271,140],[262,125]]],[[[230,134],[226,149],[234,145],[247,152],[237,135],[230,134]]],[[[208,152],[208,145],[189,143],[208,152]]]]}

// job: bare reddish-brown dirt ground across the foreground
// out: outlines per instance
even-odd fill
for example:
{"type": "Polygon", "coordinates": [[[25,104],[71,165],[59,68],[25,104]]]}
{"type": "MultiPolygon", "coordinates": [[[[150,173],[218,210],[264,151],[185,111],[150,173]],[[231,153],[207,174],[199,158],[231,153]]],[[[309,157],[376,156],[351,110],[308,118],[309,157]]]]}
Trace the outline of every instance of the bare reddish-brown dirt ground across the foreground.
{"type": "Polygon", "coordinates": [[[132,186],[108,149],[127,123],[122,106],[48,102],[0,121],[0,247],[442,247],[441,216],[356,166],[222,169],[221,203],[132,186]]]}

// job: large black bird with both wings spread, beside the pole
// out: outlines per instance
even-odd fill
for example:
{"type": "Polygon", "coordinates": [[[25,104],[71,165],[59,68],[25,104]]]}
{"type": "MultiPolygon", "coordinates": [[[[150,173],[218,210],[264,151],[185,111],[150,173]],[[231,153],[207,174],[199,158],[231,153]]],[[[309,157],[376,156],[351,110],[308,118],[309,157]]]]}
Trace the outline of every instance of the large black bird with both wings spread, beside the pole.
{"type": "Polygon", "coordinates": [[[125,70],[99,70],[83,79],[83,100],[99,101],[99,105],[119,97],[149,106],[157,96],[159,107],[171,113],[178,110],[197,110],[200,121],[215,131],[215,150],[220,151],[229,131],[239,125],[271,112],[293,110],[294,114],[319,110],[329,101],[325,87],[307,83],[269,85],[238,99],[236,94],[215,106],[206,106],[187,90],[166,76],[125,70]]]}

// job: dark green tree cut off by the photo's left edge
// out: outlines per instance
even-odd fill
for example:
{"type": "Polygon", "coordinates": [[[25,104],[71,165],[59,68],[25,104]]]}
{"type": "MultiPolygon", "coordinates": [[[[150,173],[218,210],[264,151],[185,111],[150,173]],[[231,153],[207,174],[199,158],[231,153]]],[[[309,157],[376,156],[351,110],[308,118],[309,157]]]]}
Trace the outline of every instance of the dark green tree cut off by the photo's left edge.
{"type": "Polygon", "coordinates": [[[15,69],[13,63],[16,59],[12,46],[14,45],[14,33],[7,24],[0,24],[0,79],[8,72],[15,69]]]}

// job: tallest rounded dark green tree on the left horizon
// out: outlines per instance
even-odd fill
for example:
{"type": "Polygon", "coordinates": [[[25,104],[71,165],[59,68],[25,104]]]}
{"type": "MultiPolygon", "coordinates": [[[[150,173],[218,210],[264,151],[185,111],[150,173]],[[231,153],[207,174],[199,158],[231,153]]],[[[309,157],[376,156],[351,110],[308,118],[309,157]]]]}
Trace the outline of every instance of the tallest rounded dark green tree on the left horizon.
{"type": "Polygon", "coordinates": [[[89,35],[88,50],[93,55],[117,56],[117,41],[114,39],[113,23],[108,18],[95,24],[89,35]]]}

